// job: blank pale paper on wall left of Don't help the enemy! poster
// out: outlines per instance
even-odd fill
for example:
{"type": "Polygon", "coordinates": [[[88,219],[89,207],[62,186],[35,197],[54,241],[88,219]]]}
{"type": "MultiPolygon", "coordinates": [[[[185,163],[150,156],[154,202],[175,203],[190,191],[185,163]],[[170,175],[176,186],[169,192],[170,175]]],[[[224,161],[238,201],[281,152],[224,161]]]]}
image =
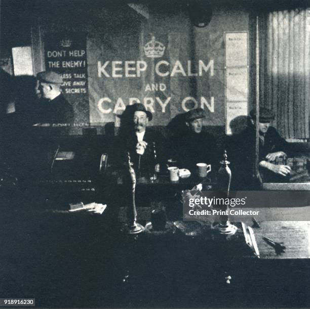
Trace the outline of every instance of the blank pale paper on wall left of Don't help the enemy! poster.
{"type": "Polygon", "coordinates": [[[12,48],[14,75],[33,75],[32,52],[30,46],[12,48]]]}

